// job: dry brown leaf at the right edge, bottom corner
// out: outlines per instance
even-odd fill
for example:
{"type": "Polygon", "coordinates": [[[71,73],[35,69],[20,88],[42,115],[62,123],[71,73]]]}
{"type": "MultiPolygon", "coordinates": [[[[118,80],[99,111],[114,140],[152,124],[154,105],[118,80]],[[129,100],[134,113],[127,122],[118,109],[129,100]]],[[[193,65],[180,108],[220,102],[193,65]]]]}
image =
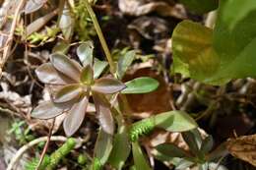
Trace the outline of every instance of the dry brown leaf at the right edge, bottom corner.
{"type": "Polygon", "coordinates": [[[226,148],[234,157],[256,166],[256,135],[229,139],[226,148]]]}

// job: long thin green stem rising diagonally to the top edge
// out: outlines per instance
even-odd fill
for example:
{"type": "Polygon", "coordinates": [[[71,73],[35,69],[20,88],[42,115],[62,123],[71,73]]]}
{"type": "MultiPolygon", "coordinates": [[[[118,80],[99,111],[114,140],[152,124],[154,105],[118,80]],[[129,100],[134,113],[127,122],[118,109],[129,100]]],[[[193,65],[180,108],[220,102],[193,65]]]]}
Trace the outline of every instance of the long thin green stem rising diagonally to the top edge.
{"type": "Polygon", "coordinates": [[[87,10],[88,10],[88,13],[89,13],[89,15],[91,16],[91,19],[92,19],[92,21],[93,21],[93,23],[94,23],[94,26],[95,26],[95,28],[96,28],[96,34],[97,34],[97,36],[98,36],[98,38],[99,38],[99,41],[100,41],[101,46],[102,46],[102,48],[103,48],[103,50],[104,50],[106,59],[107,59],[108,64],[109,64],[109,66],[110,66],[110,72],[111,72],[112,74],[114,74],[114,72],[115,72],[114,62],[113,62],[113,60],[112,60],[111,53],[110,53],[110,51],[109,51],[109,49],[108,49],[108,46],[107,46],[107,44],[106,44],[106,41],[105,41],[105,38],[104,38],[104,36],[103,36],[102,30],[101,30],[101,28],[100,28],[99,25],[98,25],[98,22],[97,22],[97,19],[96,19],[96,13],[94,12],[94,10],[93,10],[93,8],[91,7],[91,5],[90,5],[90,3],[88,2],[88,0],[85,0],[85,4],[86,4],[87,10]]]}

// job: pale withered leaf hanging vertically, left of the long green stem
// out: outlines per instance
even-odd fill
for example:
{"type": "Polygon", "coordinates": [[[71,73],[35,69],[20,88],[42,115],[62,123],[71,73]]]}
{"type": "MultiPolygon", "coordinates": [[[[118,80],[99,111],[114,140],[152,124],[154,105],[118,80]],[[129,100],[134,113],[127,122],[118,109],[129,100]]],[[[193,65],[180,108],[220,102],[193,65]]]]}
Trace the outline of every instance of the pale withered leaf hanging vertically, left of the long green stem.
{"type": "Polygon", "coordinates": [[[69,40],[72,37],[74,32],[74,25],[75,21],[72,17],[69,6],[66,3],[59,20],[59,28],[61,29],[66,40],[69,40]]]}

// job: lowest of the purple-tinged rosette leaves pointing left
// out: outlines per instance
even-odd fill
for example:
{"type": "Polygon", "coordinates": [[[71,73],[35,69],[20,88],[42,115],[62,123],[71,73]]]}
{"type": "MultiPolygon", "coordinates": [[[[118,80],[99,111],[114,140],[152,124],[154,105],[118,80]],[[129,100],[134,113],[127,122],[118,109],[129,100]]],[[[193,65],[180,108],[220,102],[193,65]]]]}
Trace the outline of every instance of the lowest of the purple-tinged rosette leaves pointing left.
{"type": "Polygon", "coordinates": [[[32,117],[51,119],[63,113],[63,109],[56,107],[52,101],[44,101],[32,110],[32,117]]]}

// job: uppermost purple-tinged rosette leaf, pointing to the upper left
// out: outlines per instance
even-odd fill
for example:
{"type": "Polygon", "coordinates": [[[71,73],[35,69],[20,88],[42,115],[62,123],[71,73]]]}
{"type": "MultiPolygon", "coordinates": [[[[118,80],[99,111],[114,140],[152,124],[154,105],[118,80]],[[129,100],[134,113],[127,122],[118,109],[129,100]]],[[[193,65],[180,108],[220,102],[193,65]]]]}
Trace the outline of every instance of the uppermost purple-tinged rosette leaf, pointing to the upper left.
{"type": "Polygon", "coordinates": [[[80,68],[74,60],[69,59],[64,54],[54,53],[50,57],[51,63],[56,70],[63,73],[74,81],[80,80],[80,68]]]}

